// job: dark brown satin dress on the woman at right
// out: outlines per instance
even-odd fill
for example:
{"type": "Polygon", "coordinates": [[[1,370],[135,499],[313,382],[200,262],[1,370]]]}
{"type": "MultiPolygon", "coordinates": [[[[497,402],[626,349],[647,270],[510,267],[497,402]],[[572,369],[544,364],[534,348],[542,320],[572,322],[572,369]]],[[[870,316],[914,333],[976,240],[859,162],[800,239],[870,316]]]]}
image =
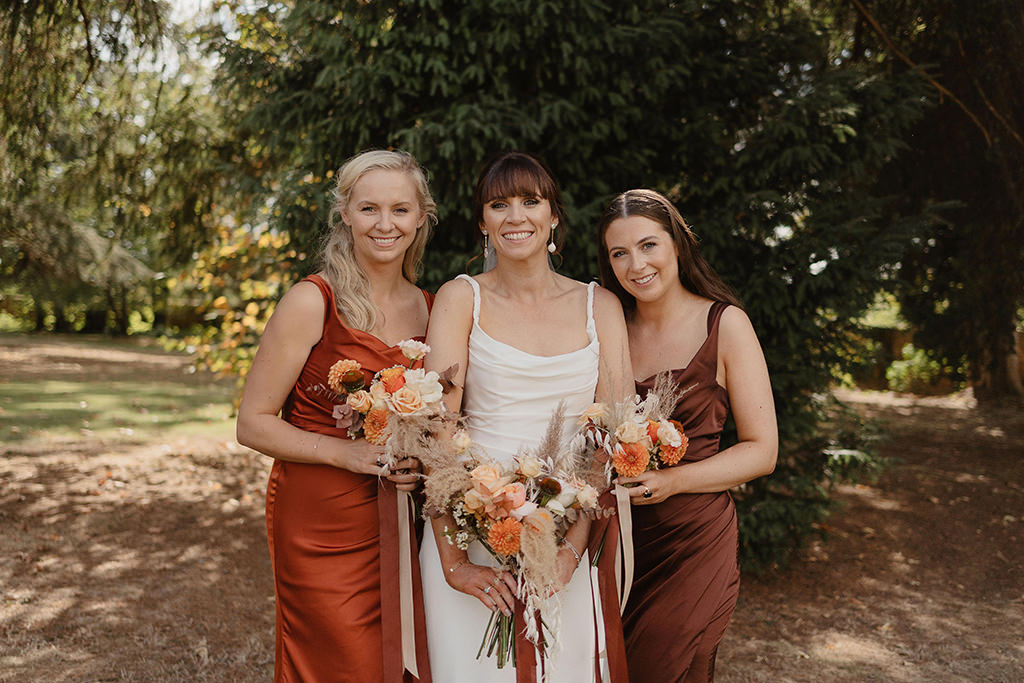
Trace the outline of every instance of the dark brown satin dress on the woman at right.
{"type": "MultiPolygon", "coordinates": [[[[708,313],[708,339],[689,366],[672,371],[685,394],[673,414],[689,446],[683,462],[718,453],[729,395],[718,384],[718,328],[727,304],[708,313]]],[[[646,395],[654,378],[637,382],[646,395]]],[[[736,509],[728,492],[680,494],[633,507],[635,573],[623,614],[630,680],[711,681],[715,655],[739,596],[736,509]]]]}

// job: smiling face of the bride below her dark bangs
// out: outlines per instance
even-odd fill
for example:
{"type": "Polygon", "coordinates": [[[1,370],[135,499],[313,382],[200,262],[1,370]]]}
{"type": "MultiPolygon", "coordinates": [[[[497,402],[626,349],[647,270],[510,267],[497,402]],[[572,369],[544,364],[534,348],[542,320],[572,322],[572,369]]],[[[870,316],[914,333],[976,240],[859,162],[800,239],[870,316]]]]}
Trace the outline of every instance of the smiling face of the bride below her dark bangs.
{"type": "Polygon", "coordinates": [[[552,224],[558,219],[551,203],[536,194],[499,197],[483,204],[480,229],[490,239],[499,258],[527,258],[547,254],[552,224]]]}

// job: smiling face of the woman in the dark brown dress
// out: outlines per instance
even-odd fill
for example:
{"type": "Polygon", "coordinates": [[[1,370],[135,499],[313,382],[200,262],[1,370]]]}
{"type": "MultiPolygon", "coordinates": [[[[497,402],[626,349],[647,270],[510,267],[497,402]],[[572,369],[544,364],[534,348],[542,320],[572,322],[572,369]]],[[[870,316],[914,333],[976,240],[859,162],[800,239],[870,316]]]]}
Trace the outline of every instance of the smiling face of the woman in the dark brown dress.
{"type": "Polygon", "coordinates": [[[656,301],[679,282],[679,255],[672,236],[645,216],[616,218],[604,233],[615,280],[637,301],[656,301]]]}

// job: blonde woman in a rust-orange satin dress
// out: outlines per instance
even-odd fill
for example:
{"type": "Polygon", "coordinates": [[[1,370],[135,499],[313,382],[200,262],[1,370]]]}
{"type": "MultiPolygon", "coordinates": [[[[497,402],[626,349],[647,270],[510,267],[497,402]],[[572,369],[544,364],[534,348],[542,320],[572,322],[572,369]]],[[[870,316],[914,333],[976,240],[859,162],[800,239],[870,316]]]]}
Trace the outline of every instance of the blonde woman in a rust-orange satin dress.
{"type": "MultiPolygon", "coordinates": [[[[414,283],[435,223],[411,156],[353,157],[338,172],[319,272],[282,298],[260,340],[238,440],[274,459],[266,493],[274,681],[382,680],[384,449],[347,438],[333,417],[336,398],[323,387],[342,358],[361,364],[368,383],[376,371],[408,362],[395,344],[426,333],[433,299],[414,283]]],[[[418,463],[399,461],[402,468],[418,463]]],[[[415,473],[387,478],[402,490],[418,481],[415,473]]]]}

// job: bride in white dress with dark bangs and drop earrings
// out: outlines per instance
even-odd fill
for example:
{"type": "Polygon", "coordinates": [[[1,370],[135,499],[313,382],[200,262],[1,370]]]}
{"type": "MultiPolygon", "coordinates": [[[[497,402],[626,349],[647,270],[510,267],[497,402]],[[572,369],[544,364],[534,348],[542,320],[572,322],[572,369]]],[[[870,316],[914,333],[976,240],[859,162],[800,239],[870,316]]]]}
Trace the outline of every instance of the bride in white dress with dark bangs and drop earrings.
{"type": "MultiPolygon", "coordinates": [[[[614,295],[549,267],[565,216],[558,185],[538,160],[521,153],[493,160],[477,181],[474,219],[494,267],[485,263],[480,275],[459,275],[438,291],[427,367],[456,366],[449,408],[465,415],[474,443],[512,465],[520,449],[541,440],[559,401],[572,429],[595,399],[629,392],[626,326],[614,295]]],[[[440,683],[513,681],[513,669],[499,670],[476,652],[490,611],[512,613],[515,581],[479,543],[468,553],[449,543],[444,529],[454,525],[451,517],[432,520],[420,555],[431,673],[440,683]]],[[[580,519],[558,554],[564,588],[552,599],[561,603],[560,628],[545,666],[557,683],[591,681],[601,645],[594,642],[603,627],[594,624],[589,532],[590,520],[580,519]]]]}

